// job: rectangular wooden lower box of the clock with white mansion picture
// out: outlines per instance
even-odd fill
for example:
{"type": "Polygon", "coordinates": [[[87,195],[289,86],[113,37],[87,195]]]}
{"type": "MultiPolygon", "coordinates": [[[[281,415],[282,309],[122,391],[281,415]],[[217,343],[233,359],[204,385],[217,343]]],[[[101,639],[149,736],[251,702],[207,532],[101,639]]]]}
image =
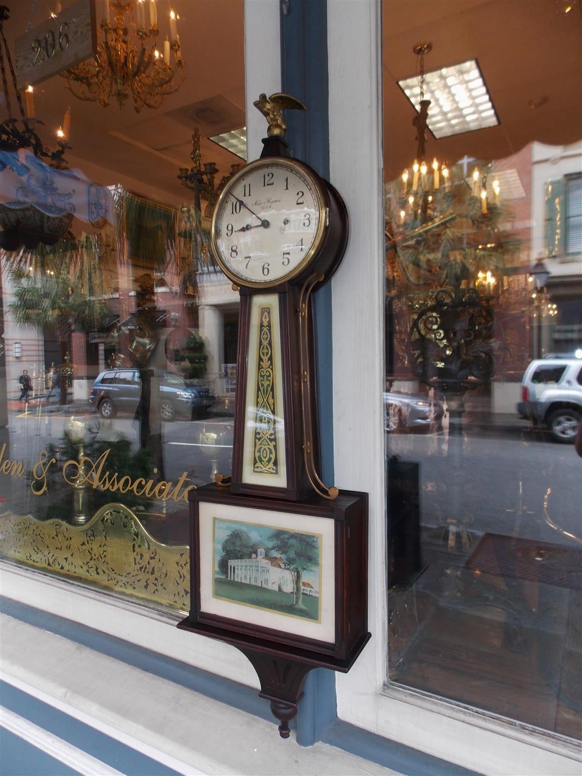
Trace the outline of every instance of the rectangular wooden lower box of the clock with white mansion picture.
{"type": "MultiPolygon", "coordinates": [[[[191,604],[189,616],[178,627],[234,646],[293,656],[333,670],[348,670],[370,636],[367,625],[367,494],[341,491],[334,501],[312,497],[298,503],[234,495],[226,488],[212,484],[191,491],[189,501],[191,604]],[[310,590],[318,596],[317,600],[309,597],[306,601],[314,614],[300,617],[283,614],[282,611],[289,611],[289,607],[273,611],[270,601],[274,598],[279,602],[285,598],[282,592],[285,582],[280,580],[278,596],[271,595],[273,587],[263,593],[260,582],[233,584],[234,593],[223,594],[227,580],[235,579],[237,563],[255,563],[263,567],[271,563],[275,566],[283,564],[273,563],[272,558],[265,558],[265,563],[259,564],[261,553],[265,552],[259,546],[256,559],[231,560],[227,577],[223,573],[219,577],[217,559],[223,536],[221,528],[217,528],[220,524],[229,528],[246,526],[249,532],[258,528],[263,535],[273,535],[278,529],[286,528],[286,533],[298,535],[296,540],[299,542],[306,537],[311,537],[312,541],[319,537],[322,566],[318,570],[319,584],[315,581],[313,586],[307,584],[303,594],[308,595],[310,590]],[[306,525],[313,525],[314,531],[305,531],[306,525]],[[252,600],[256,602],[257,596],[264,597],[265,594],[270,596],[266,605],[245,603],[241,598],[254,597],[252,600]]],[[[266,582],[265,587],[268,587],[266,582]]],[[[308,610],[302,608],[302,611],[308,610]]]]}

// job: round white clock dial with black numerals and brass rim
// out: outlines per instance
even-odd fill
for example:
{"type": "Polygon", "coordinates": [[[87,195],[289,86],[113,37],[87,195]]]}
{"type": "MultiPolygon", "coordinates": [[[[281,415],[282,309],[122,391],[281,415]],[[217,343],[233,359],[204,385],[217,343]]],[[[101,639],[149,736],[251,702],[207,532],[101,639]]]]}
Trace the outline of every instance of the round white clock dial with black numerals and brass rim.
{"type": "Polygon", "coordinates": [[[224,271],[249,286],[297,275],[317,250],[324,224],[320,193],[284,160],[258,161],[234,178],[213,217],[213,248],[224,271]]]}

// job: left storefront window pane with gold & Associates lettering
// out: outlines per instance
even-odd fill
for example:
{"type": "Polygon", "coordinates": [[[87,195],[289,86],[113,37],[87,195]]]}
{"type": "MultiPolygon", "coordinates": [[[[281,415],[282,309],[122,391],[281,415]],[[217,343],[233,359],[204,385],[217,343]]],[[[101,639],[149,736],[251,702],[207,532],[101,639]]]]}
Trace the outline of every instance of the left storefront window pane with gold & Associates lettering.
{"type": "MultiPolygon", "coordinates": [[[[230,473],[238,296],[209,230],[244,158],[210,137],[244,141],[243,14],[162,5],[156,58],[185,79],[161,105],[81,102],[55,75],[23,110],[49,151],[64,132],[64,161],[2,133],[0,532],[12,563],[187,610],[188,492],[230,473]]],[[[12,53],[28,14],[5,22],[12,53]]]]}

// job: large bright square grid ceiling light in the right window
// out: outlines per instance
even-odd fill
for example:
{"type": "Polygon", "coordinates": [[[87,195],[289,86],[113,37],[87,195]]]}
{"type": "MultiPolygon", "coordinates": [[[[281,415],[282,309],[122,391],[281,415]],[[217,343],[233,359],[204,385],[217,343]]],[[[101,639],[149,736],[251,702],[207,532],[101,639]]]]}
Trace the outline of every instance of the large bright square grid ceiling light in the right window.
{"type": "MultiPolygon", "coordinates": [[[[418,100],[415,99],[418,95],[417,76],[404,78],[398,81],[398,85],[418,109],[418,100]]],[[[483,130],[499,123],[483,74],[474,59],[427,73],[424,95],[433,105],[438,103],[446,113],[446,116],[439,113],[437,126],[434,111],[432,115],[428,111],[428,129],[437,139],[483,130]]]]}

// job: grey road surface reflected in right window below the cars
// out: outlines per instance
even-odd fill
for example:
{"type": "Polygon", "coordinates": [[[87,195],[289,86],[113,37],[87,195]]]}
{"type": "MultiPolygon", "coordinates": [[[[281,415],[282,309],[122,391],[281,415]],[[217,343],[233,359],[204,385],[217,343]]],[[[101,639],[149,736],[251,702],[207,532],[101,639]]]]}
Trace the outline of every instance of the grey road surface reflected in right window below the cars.
{"type": "Polygon", "coordinates": [[[582,461],[573,445],[546,442],[525,422],[505,432],[471,431],[456,474],[442,446],[445,442],[438,435],[387,439],[389,456],[420,463],[423,526],[445,527],[457,517],[456,508],[470,503],[470,510],[460,515],[468,532],[559,542],[544,519],[544,497],[551,490],[549,517],[563,530],[582,536],[582,461]],[[451,501],[455,477],[460,480],[461,504],[451,501]]]}

